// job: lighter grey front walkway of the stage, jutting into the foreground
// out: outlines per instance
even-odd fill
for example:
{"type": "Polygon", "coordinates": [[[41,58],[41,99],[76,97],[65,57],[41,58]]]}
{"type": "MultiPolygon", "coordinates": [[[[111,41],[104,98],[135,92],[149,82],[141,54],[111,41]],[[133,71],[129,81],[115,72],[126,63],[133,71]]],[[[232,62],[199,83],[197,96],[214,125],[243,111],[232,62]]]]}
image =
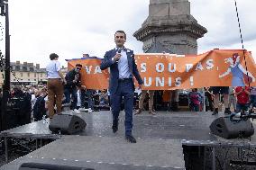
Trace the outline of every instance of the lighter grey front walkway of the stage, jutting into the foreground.
{"type": "Polygon", "coordinates": [[[95,169],[108,169],[107,165],[114,170],[184,169],[181,143],[173,139],[140,139],[130,144],[120,137],[66,136],[3,169],[18,169],[23,162],[52,162],[95,169]]]}

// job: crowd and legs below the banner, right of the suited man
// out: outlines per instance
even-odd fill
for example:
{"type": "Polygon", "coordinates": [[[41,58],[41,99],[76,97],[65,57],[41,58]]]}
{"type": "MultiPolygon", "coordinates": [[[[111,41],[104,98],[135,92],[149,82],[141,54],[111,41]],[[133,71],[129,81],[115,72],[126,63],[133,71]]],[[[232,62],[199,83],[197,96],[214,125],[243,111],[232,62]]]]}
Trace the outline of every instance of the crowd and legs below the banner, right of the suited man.
{"type": "MultiPolygon", "coordinates": [[[[155,102],[159,102],[160,100],[154,100],[154,94],[157,91],[147,91],[142,90],[140,94],[139,100],[139,108],[136,114],[141,114],[145,108],[148,108],[150,114],[156,114],[154,110],[155,102]],[[148,95],[148,106],[145,106],[145,96],[148,95]]],[[[250,111],[256,112],[256,87],[224,87],[224,86],[213,86],[213,87],[205,87],[204,89],[189,89],[186,91],[186,99],[187,99],[187,109],[189,111],[194,112],[213,112],[213,115],[217,114],[219,110],[223,109],[224,105],[224,113],[230,114],[232,112],[241,112],[250,111]]],[[[163,91],[160,94],[160,98],[162,99],[162,107],[161,111],[178,111],[178,103],[180,97],[178,97],[178,91],[163,91]]]]}

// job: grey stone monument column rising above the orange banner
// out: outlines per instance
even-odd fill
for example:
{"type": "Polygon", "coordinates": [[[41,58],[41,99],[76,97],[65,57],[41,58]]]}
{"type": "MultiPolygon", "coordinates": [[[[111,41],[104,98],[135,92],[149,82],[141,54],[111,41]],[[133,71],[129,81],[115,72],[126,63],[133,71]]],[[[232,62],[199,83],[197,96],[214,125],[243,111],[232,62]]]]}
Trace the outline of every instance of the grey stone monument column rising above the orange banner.
{"type": "Polygon", "coordinates": [[[150,0],[149,16],[133,36],[144,52],[197,54],[197,39],[206,32],[190,14],[188,0],[150,0]]]}

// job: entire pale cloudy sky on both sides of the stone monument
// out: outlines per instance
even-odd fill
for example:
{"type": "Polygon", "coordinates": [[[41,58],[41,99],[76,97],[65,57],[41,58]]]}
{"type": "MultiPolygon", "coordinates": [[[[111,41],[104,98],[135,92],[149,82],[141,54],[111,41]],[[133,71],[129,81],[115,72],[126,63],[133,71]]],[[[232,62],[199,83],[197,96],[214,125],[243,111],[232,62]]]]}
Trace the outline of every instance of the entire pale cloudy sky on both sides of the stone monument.
{"type": "MultiPolygon", "coordinates": [[[[207,29],[197,40],[198,53],[211,49],[242,49],[234,0],[189,0],[190,13],[207,29]]],[[[114,48],[114,31],[127,33],[125,46],[142,53],[142,42],[133,32],[149,14],[150,0],[9,0],[11,61],[33,62],[45,67],[49,55],[82,58],[83,53],[103,58],[114,48]]],[[[256,1],[237,0],[244,48],[256,58],[256,1]]],[[[5,25],[5,18],[0,17],[5,25]]],[[[5,30],[4,30],[5,31],[5,30]]],[[[0,49],[5,41],[0,32],[0,49]]],[[[5,39],[5,37],[4,37],[5,39]]]]}

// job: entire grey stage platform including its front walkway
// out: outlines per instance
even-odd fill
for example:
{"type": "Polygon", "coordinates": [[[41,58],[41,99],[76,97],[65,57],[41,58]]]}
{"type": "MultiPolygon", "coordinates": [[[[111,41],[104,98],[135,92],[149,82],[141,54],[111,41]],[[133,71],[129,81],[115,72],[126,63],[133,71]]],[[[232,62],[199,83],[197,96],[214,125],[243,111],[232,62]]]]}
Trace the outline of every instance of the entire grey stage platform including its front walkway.
{"type": "Polygon", "coordinates": [[[133,116],[133,136],[137,139],[136,144],[124,140],[123,112],[120,114],[119,130],[116,134],[111,129],[112,115],[109,111],[77,115],[87,122],[87,128],[76,135],[51,134],[48,129],[49,120],[32,122],[1,132],[0,136],[5,139],[56,140],[0,169],[16,170],[26,162],[99,170],[185,169],[183,146],[256,147],[256,135],[251,140],[222,139],[210,133],[209,125],[218,116],[224,116],[223,113],[212,116],[211,112],[157,112],[153,116],[142,112],[133,116]]]}

